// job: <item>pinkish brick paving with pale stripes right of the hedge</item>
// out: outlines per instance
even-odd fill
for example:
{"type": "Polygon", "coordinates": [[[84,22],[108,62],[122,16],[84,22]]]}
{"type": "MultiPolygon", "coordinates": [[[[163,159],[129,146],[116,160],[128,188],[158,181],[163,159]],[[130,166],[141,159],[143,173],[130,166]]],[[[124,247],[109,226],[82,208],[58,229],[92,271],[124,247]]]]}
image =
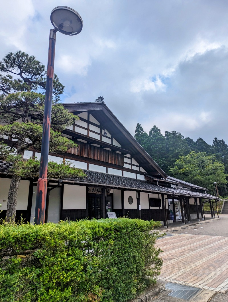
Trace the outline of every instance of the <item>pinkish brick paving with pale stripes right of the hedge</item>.
{"type": "Polygon", "coordinates": [[[228,237],[175,234],[158,239],[157,246],[164,251],[159,279],[227,291],[228,237]]]}

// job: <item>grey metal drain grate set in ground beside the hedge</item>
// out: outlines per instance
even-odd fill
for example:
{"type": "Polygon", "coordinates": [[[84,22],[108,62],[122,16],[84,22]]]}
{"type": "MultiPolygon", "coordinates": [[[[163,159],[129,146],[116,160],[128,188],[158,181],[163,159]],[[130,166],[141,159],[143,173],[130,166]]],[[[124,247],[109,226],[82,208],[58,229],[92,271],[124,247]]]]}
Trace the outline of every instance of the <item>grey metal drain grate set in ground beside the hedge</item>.
{"type": "Polygon", "coordinates": [[[168,294],[168,296],[187,300],[187,301],[189,301],[199,291],[201,291],[201,288],[196,288],[193,286],[188,286],[183,284],[177,284],[173,282],[167,282],[165,284],[165,288],[172,290],[171,293],[168,294]]]}

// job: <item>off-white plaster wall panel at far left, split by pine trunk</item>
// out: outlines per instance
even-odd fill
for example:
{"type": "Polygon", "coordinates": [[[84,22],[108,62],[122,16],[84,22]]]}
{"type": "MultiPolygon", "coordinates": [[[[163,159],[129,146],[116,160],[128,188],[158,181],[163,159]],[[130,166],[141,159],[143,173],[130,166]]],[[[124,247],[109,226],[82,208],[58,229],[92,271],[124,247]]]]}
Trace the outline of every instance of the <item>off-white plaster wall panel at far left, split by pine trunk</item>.
{"type": "MultiPolygon", "coordinates": [[[[0,204],[2,204],[0,210],[6,210],[10,182],[11,178],[0,178],[0,204]],[[6,202],[3,202],[4,199],[6,200],[6,202]]],[[[21,180],[18,189],[17,210],[27,210],[28,190],[29,181],[21,180]]]]}

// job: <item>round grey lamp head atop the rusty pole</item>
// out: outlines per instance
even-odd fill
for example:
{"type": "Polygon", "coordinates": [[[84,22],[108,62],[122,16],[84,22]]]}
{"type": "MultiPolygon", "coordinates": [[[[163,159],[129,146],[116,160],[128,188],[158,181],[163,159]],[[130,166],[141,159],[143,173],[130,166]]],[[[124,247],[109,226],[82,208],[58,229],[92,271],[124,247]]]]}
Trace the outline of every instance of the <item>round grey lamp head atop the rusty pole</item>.
{"type": "Polygon", "coordinates": [[[57,6],[51,11],[52,25],[64,35],[74,36],[82,30],[82,18],[73,8],[57,6]]]}

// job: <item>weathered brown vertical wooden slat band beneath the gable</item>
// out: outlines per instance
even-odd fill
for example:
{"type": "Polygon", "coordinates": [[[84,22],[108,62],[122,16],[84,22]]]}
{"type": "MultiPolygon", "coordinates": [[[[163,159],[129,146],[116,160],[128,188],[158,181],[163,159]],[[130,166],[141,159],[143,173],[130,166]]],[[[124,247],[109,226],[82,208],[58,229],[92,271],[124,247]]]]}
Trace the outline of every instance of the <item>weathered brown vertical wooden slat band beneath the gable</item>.
{"type": "Polygon", "coordinates": [[[70,148],[67,153],[96,159],[101,162],[108,162],[114,165],[124,166],[124,156],[103,148],[99,148],[90,144],[74,140],[78,144],[78,148],[70,148]]]}

